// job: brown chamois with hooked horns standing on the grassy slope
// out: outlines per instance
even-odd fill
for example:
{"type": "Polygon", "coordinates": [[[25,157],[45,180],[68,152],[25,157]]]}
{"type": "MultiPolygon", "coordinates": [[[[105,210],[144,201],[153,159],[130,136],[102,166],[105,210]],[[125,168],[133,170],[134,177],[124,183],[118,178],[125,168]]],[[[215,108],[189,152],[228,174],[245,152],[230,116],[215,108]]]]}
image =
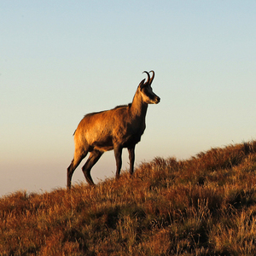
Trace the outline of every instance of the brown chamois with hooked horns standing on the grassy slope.
{"type": "Polygon", "coordinates": [[[147,74],[148,79],[146,82],[143,79],[138,85],[130,104],[107,111],[88,113],[80,121],[73,134],[75,150],[73,160],[67,168],[67,188],[71,188],[73,172],[88,152],[90,152],[90,156],[82,167],[82,171],[90,185],[94,185],[90,169],[105,151],[112,149],[116,160],[116,178],[119,178],[121,170],[123,148],[128,149],[130,174],[132,175],[135,160],[134,149],[146,128],[145,118],[148,104],[160,102],[160,97],[156,96],[151,88],[154,71],[149,72],[153,73],[151,78],[148,72],[144,71],[143,73],[147,74]]]}

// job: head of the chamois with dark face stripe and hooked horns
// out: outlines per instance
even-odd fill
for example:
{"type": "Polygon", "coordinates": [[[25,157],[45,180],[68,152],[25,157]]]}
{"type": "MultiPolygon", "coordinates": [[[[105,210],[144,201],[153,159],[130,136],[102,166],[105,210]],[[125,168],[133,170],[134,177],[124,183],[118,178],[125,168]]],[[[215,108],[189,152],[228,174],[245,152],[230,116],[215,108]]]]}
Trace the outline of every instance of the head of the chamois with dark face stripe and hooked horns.
{"type": "Polygon", "coordinates": [[[145,82],[145,79],[142,80],[142,82],[138,86],[138,90],[140,90],[142,96],[143,96],[143,102],[147,104],[158,104],[160,102],[160,97],[154,94],[151,84],[154,79],[154,71],[150,71],[149,73],[147,71],[144,71],[143,73],[146,73],[148,75],[148,80],[145,82]],[[152,72],[153,75],[150,78],[149,73],[152,72]]]}

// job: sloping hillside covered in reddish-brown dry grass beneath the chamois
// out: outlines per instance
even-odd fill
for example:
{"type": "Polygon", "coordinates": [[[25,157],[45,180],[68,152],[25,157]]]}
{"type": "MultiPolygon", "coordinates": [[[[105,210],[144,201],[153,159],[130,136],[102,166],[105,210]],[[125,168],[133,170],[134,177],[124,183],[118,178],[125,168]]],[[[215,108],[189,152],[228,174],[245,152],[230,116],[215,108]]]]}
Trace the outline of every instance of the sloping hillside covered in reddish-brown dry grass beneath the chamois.
{"type": "Polygon", "coordinates": [[[255,184],[253,141],[96,188],[15,192],[0,199],[0,255],[256,255],[255,184]]]}

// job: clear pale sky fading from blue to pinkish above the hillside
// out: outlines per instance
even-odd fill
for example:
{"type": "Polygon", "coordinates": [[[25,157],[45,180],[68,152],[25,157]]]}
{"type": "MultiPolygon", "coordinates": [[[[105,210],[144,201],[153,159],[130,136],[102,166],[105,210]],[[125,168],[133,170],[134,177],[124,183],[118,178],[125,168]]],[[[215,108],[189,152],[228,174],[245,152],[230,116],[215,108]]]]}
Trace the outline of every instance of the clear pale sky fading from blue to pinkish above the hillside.
{"type": "MultiPolygon", "coordinates": [[[[161,101],[136,166],[256,138],[253,0],[3,0],[0,24],[0,195],[64,188],[79,121],[131,102],[144,70],[161,101]]],[[[114,173],[113,151],[91,171],[114,173]]]]}

